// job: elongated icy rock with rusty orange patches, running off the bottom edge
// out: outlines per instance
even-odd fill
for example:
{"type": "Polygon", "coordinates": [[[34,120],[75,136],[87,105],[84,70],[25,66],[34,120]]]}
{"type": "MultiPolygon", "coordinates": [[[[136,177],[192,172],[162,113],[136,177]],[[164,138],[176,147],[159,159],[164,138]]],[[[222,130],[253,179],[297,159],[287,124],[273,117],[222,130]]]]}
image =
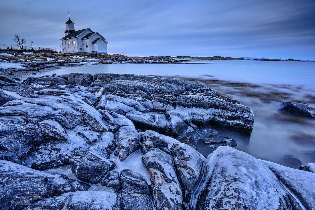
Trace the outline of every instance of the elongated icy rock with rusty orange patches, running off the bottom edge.
{"type": "Polygon", "coordinates": [[[142,157],[142,161],[149,172],[155,209],[183,209],[182,192],[172,157],[162,150],[152,148],[142,157]]]}

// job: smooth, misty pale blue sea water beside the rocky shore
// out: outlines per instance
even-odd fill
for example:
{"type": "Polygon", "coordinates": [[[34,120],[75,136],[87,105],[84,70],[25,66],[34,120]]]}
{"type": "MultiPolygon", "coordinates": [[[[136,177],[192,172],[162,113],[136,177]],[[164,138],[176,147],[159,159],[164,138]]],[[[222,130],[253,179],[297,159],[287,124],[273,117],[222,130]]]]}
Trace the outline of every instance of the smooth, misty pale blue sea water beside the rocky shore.
{"type": "Polygon", "coordinates": [[[281,101],[315,105],[315,62],[197,60],[189,64],[101,64],[63,68],[43,75],[73,72],[157,75],[203,83],[253,110],[251,139],[238,141],[236,149],[291,167],[295,164],[292,159],[285,159],[286,155],[295,156],[302,164],[315,162],[315,120],[277,110],[281,101]]]}

